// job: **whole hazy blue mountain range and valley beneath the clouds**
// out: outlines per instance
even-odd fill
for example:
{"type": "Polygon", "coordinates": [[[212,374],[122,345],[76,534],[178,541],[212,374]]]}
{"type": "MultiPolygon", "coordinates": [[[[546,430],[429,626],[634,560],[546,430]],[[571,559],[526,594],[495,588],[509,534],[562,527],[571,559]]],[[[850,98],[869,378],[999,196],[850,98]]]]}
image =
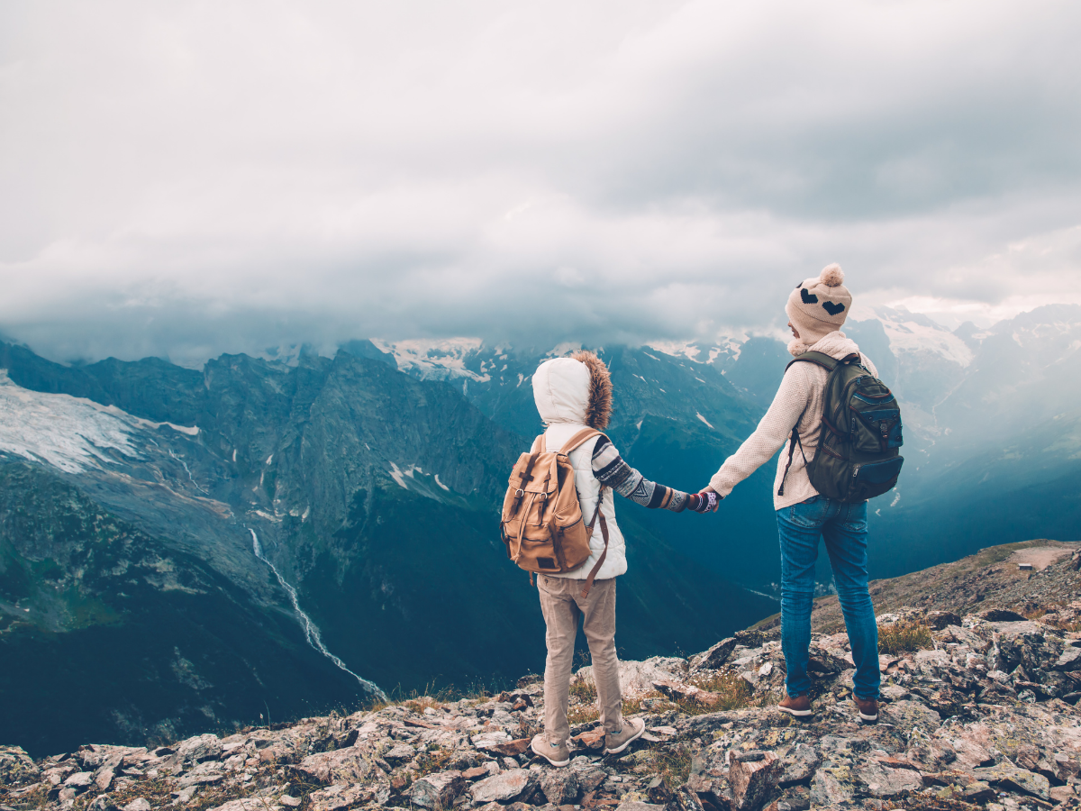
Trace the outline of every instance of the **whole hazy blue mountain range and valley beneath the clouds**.
{"type": "MultiPolygon", "coordinates": [[[[1081,307],[952,332],[875,315],[846,332],[900,397],[907,461],[871,504],[872,575],[1081,540],[1081,307]]],[[[542,429],[530,376],[570,348],[357,340],[191,370],[0,344],[0,692],[25,699],[0,740],[165,740],[351,706],[368,680],[542,668],[496,514],[542,429]]],[[[753,430],[790,360],[769,337],[601,354],[613,441],[686,490],[753,430]]],[[[772,477],[716,516],[620,502],[623,655],[700,650],[776,611],[772,477]]]]}

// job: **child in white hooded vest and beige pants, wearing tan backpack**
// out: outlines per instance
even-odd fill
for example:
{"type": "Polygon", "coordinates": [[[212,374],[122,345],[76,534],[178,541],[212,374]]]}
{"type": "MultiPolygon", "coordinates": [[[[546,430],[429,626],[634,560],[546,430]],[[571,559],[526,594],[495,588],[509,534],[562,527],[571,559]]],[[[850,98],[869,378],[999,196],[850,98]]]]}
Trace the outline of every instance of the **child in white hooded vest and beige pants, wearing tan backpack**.
{"type": "MultiPolygon", "coordinates": [[[[608,426],[612,412],[612,381],[600,358],[590,351],[579,351],[570,358],[542,363],[533,375],[533,398],[547,426],[544,435],[547,449],[558,451],[583,428],[603,430],[608,426]]],[[[533,739],[531,747],[552,766],[571,762],[566,706],[574,640],[583,616],[605,732],[604,753],[623,752],[645,731],[645,721],[625,720],[622,713],[619,660],[615,651],[615,579],[627,571],[627,556],[615,520],[612,491],[645,507],[663,507],[673,513],[684,509],[705,513],[716,507],[712,493],[689,495],[643,478],[619,457],[608,437],[587,440],[571,451],[569,457],[586,520],[597,509],[603,488],[601,515],[608,524],[609,545],[592,589],[586,597],[582,596],[586,577],[604,551],[599,526],[593,528],[589,540],[592,555],[585,563],[565,574],[537,577],[540,610],[548,626],[548,659],[544,673],[545,731],[533,739]]]]}

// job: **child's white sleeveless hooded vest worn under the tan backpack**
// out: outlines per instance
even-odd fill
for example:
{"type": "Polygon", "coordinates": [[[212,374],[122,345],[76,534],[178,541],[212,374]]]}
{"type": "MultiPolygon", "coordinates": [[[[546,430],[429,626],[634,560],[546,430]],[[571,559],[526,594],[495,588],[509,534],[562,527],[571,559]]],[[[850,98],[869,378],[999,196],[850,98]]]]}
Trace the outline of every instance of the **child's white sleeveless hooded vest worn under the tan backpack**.
{"type": "MultiPolygon", "coordinates": [[[[545,444],[549,451],[558,451],[571,437],[583,428],[587,414],[596,410],[596,403],[590,402],[595,387],[590,385],[589,368],[573,358],[552,358],[542,363],[533,374],[533,399],[536,402],[540,418],[548,426],[545,431],[545,444]]],[[[582,504],[582,515],[589,523],[597,509],[597,500],[601,492],[601,483],[593,476],[593,447],[598,437],[587,440],[571,451],[569,458],[574,467],[574,484],[578,490],[578,502],[582,504]]],[[[535,446],[535,443],[534,443],[535,446]]],[[[612,489],[604,489],[604,501],[601,504],[601,515],[608,523],[609,549],[604,563],[597,572],[597,580],[616,577],[627,571],[627,548],[623,533],[615,520],[615,500],[612,489]]],[[[601,534],[600,518],[593,526],[593,534],[589,539],[592,555],[580,567],[565,574],[546,574],[546,577],[574,577],[585,580],[593,566],[600,559],[604,549],[604,539],[601,534]]]]}

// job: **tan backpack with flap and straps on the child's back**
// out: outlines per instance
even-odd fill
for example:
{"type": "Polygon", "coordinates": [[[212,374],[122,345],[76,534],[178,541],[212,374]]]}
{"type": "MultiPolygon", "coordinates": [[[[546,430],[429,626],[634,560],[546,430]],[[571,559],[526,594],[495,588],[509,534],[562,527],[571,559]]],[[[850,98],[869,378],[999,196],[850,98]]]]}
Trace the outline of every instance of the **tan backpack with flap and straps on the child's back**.
{"type": "Polygon", "coordinates": [[[535,450],[519,456],[510,471],[501,522],[507,557],[528,571],[530,583],[533,583],[534,572],[565,574],[585,563],[592,554],[589,539],[600,517],[604,550],[589,572],[583,597],[589,595],[593,577],[608,556],[608,523],[601,515],[604,487],[601,487],[593,517],[587,524],[568,454],[596,436],[602,435],[595,428],[583,428],[552,453],[546,448],[542,434],[533,443],[535,450]]]}

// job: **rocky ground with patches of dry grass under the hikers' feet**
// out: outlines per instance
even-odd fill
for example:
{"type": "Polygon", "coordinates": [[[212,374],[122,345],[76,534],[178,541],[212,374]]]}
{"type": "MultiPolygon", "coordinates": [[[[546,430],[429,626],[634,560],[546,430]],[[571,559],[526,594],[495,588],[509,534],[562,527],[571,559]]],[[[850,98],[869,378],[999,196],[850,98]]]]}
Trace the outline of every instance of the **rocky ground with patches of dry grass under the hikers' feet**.
{"type": "MultiPolygon", "coordinates": [[[[154,749],[88,745],[34,761],[0,747],[0,811],[1081,808],[1081,601],[1070,590],[1081,550],[1047,548],[1059,551],[1042,571],[1011,571],[977,612],[919,599],[882,611],[877,724],[857,720],[843,633],[814,636],[816,712],[800,722],[773,706],[785,675],[776,628],[750,629],[686,660],[623,663],[625,712],[649,732],[619,756],[602,754],[583,668],[564,769],[530,756],[542,689],[525,677],[496,696],[422,697],[154,749]],[[1024,598],[1025,615],[999,593],[1024,598]]],[[[1015,551],[965,576],[1009,568],[1015,551]]]]}

